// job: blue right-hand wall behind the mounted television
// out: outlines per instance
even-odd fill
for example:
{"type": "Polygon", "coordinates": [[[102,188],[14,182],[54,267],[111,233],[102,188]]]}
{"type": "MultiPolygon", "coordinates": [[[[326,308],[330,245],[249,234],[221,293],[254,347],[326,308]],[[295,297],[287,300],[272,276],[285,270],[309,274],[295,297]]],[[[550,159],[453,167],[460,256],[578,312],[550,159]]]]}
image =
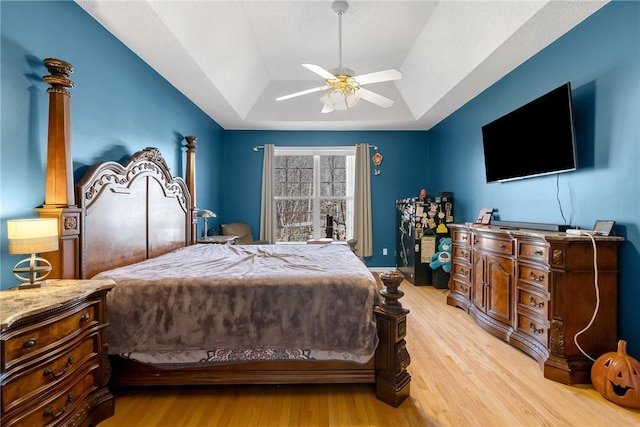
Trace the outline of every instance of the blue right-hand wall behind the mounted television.
{"type": "MultiPolygon", "coordinates": [[[[430,162],[449,165],[429,181],[454,192],[458,222],[472,221],[483,207],[497,208],[506,221],[582,228],[596,219],[617,222],[616,233],[626,239],[619,338],[640,357],[640,3],[606,5],[429,131],[429,144],[430,162]],[[481,127],[567,81],[578,170],[487,184],[481,127]]],[[[592,286],[585,283],[585,291],[592,286]]]]}

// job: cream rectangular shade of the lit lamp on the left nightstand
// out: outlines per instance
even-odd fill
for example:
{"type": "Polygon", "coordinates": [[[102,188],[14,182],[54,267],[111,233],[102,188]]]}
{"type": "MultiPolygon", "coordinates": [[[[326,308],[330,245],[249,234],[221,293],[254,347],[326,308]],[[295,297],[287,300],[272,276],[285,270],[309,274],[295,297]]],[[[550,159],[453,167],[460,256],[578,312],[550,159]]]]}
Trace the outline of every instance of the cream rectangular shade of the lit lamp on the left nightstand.
{"type": "Polygon", "coordinates": [[[10,254],[35,254],[58,250],[56,218],[13,219],[7,221],[10,254]]]}

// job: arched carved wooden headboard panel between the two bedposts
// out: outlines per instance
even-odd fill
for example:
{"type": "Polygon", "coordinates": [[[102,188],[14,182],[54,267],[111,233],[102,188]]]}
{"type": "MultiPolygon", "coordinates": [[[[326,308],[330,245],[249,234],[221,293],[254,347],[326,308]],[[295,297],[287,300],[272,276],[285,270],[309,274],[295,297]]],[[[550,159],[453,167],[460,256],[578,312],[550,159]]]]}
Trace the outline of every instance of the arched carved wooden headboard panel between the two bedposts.
{"type": "Polygon", "coordinates": [[[191,199],[156,148],[94,165],[76,187],[80,278],[162,255],[191,241],[191,199]]]}

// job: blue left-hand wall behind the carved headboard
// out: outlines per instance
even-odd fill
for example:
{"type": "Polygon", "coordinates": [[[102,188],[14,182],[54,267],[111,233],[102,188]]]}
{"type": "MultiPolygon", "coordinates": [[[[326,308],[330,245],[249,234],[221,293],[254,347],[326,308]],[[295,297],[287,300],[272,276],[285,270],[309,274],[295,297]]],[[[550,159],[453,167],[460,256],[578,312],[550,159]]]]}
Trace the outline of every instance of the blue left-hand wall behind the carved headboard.
{"type": "Polygon", "coordinates": [[[174,175],[183,176],[185,135],[198,137],[199,206],[220,205],[214,176],[221,170],[222,129],[191,101],[71,1],[2,1],[0,133],[0,288],[16,284],[7,254],[6,221],[37,217],[44,202],[50,87],[42,64],[53,57],[71,63],[73,168],[121,161],[157,147],[174,175]]]}

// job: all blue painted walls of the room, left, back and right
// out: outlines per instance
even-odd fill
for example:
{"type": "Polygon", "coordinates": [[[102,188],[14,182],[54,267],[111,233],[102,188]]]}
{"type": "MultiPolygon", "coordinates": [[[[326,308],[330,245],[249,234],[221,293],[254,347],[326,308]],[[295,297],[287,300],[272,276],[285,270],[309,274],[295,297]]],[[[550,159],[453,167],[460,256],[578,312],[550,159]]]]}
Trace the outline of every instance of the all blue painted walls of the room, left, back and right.
{"type": "MultiPolygon", "coordinates": [[[[42,59],[73,64],[74,170],[158,147],[175,174],[183,171],[184,135],[198,137],[198,205],[220,215],[217,225],[259,226],[261,152],[254,145],[378,145],[382,173],[372,176],[375,255],[367,264],[394,265],[394,200],[453,191],[457,222],[494,207],[513,221],[617,221],[620,255],[619,336],[640,357],[640,3],[614,1],[460,108],[429,132],[223,131],[93,18],[70,1],[0,2],[2,117],[0,133],[0,278],[20,257],[6,254],[6,220],[34,217],[43,203],[48,85],[42,59]],[[480,128],[570,81],[579,169],[486,184],[480,128]],[[389,255],[382,256],[382,248],[389,255]]],[[[590,287],[590,284],[585,284],[590,287]]],[[[613,350],[613,349],[612,349],[613,350]]]]}

